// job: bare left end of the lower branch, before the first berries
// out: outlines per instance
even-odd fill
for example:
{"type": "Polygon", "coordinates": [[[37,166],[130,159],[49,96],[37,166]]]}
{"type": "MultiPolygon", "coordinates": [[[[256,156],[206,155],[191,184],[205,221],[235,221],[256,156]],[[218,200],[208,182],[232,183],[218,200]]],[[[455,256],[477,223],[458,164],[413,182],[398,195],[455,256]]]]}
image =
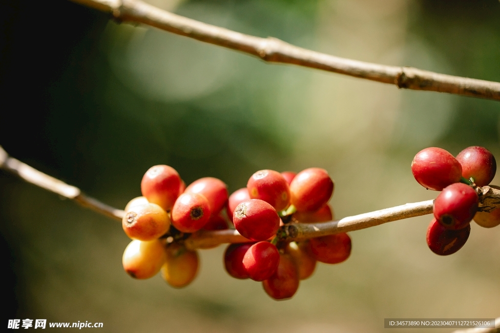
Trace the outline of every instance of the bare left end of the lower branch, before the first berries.
{"type": "Polygon", "coordinates": [[[25,180],[28,183],[39,186],[47,191],[56,193],[64,198],[76,201],[78,204],[90,208],[97,213],[106,215],[108,217],[121,221],[124,212],[120,209],[108,206],[97,199],[86,196],[81,193],[80,189],[68,185],[61,180],[50,177],[41,171],[38,171],[29,165],[16,160],[8,154],[0,146],[0,168],[8,171],[17,177],[25,180]]]}

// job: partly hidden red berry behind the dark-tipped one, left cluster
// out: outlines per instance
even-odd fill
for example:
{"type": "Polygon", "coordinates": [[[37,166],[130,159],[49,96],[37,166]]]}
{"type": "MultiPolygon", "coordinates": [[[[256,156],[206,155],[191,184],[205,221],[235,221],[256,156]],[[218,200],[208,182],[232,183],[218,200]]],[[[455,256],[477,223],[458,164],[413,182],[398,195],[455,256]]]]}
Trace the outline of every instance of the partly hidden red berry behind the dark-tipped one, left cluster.
{"type": "Polygon", "coordinates": [[[212,215],[217,215],[227,201],[227,185],[213,177],[195,180],[186,187],[184,193],[198,193],[205,196],[210,204],[212,215]]]}

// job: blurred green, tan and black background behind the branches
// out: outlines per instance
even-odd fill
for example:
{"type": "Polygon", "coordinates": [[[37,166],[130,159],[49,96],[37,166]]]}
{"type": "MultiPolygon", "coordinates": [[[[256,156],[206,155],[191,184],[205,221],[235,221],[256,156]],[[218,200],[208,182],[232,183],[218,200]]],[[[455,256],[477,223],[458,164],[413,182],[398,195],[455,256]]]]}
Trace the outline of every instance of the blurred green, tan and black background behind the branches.
{"type": "MultiPolygon", "coordinates": [[[[497,0],[151,0],[203,22],[338,56],[500,81],[497,0]]],[[[317,166],[337,218],[433,199],[419,150],[482,145],[500,158],[500,103],[286,65],[65,0],[0,3],[0,145],[115,207],[154,164],[234,191],[255,171],[317,166]]],[[[500,184],[500,177],[493,183],[500,184]]],[[[103,332],[382,332],[384,318],[500,317],[500,228],[428,250],[429,216],[350,234],[291,300],[230,278],[224,246],[176,290],[129,278],[118,222],[0,172],[7,319],[102,322],[103,332]]],[[[55,331],[55,329],[52,329],[55,331]]],[[[405,330],[392,330],[403,332],[405,330]]],[[[452,330],[427,330],[448,332],[452,330]]]]}

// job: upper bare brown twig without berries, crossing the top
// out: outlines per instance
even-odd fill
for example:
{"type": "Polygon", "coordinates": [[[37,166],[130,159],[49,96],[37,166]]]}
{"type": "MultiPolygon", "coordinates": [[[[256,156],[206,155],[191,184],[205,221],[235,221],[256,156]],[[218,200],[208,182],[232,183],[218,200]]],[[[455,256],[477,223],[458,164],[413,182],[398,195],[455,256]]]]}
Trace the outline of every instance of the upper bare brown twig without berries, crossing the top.
{"type": "Polygon", "coordinates": [[[340,58],[260,38],[173,14],[140,0],[71,0],[104,12],[118,21],[144,23],[207,43],[257,56],[264,61],[289,63],[395,84],[399,88],[429,90],[500,101],[500,82],[435,73],[413,67],[386,66],[340,58]]]}

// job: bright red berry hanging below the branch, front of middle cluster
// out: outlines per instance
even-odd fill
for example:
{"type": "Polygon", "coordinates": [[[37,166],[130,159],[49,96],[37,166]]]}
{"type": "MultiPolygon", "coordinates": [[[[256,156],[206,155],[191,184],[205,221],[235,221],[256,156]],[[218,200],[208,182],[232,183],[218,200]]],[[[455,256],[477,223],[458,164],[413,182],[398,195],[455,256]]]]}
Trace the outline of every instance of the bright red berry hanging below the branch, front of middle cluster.
{"type": "Polygon", "coordinates": [[[258,242],[246,250],[243,267],[248,277],[254,281],[268,279],[278,267],[279,252],[269,242],[258,242]]]}

